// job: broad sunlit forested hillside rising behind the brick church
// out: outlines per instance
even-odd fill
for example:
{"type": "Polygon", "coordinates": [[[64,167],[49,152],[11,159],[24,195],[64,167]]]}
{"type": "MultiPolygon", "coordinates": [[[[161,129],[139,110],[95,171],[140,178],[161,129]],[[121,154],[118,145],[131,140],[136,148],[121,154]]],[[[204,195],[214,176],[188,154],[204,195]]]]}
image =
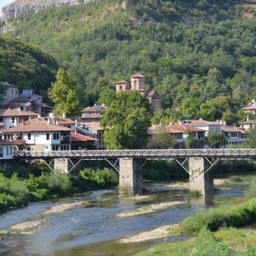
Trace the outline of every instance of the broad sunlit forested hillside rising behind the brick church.
{"type": "MultiPolygon", "coordinates": [[[[57,59],[79,81],[91,105],[101,91],[114,89],[115,81],[130,81],[140,72],[146,88],[162,97],[163,110],[153,122],[203,117],[240,123],[246,118],[240,107],[256,98],[255,3],[103,0],[63,5],[12,18],[7,35],[57,59]]],[[[53,59],[46,65],[50,70],[58,66],[53,59]]]]}

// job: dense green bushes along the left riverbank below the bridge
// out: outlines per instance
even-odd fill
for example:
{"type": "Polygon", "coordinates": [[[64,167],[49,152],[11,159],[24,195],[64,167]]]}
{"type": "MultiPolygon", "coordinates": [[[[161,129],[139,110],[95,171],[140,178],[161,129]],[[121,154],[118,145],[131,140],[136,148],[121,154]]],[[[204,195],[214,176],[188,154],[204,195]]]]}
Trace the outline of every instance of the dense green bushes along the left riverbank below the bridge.
{"type": "Polygon", "coordinates": [[[42,170],[40,165],[20,165],[0,173],[0,213],[31,201],[117,185],[117,174],[108,168],[86,168],[80,171],[80,176],[70,176],[59,170],[42,170]]]}

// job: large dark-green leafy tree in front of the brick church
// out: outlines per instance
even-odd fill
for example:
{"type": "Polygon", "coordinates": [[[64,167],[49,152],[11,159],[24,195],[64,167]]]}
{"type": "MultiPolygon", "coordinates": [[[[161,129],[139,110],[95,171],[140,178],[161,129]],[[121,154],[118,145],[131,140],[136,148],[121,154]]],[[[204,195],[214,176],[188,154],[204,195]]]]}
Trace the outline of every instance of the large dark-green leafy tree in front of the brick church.
{"type": "Polygon", "coordinates": [[[120,91],[102,113],[107,149],[144,148],[151,112],[149,101],[140,92],[120,91]]]}

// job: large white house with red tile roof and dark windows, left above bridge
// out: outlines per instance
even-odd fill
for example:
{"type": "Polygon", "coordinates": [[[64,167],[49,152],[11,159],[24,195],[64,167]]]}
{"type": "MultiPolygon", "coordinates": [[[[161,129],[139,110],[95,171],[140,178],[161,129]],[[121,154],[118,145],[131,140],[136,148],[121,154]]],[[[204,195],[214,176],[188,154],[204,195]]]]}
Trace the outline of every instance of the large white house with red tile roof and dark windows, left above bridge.
{"type": "Polygon", "coordinates": [[[72,129],[53,124],[42,117],[22,121],[16,127],[2,131],[2,138],[16,143],[18,150],[70,150],[72,129]]]}

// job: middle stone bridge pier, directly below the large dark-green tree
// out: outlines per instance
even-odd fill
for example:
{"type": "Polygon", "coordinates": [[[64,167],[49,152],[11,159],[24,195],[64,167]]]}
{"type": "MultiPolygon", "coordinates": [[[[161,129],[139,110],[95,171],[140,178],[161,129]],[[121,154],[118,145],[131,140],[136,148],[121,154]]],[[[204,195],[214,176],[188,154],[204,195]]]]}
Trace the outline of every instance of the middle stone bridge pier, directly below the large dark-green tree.
{"type": "Polygon", "coordinates": [[[119,193],[137,194],[143,192],[143,174],[141,159],[120,158],[119,159],[119,193]]]}

